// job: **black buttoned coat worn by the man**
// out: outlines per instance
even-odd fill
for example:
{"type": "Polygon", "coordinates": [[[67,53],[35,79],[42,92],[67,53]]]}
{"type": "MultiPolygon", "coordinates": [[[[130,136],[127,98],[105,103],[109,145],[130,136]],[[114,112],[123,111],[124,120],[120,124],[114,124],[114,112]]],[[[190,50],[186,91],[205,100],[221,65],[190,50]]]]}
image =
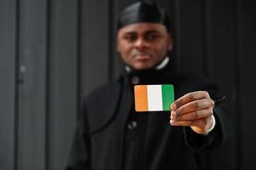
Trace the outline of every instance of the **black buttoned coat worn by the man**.
{"type": "Polygon", "coordinates": [[[213,83],[179,76],[169,67],[124,73],[117,82],[106,84],[84,99],[67,169],[204,169],[204,152],[219,147],[225,139],[226,112],[221,98],[213,83]],[[134,77],[139,78],[139,84],[174,84],[175,99],[207,90],[215,100],[213,131],[204,136],[190,127],[172,127],[169,112],[138,115],[133,104],[134,77]],[[134,120],[138,124],[130,128],[134,120]]]}

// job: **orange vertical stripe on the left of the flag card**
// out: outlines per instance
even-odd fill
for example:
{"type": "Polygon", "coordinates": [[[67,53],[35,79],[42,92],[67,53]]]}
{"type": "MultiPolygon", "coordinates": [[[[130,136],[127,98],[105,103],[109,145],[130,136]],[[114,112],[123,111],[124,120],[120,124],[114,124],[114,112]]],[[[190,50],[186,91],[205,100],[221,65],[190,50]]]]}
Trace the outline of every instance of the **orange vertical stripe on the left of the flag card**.
{"type": "Polygon", "coordinates": [[[135,111],[148,111],[147,86],[137,85],[134,87],[135,111]]]}

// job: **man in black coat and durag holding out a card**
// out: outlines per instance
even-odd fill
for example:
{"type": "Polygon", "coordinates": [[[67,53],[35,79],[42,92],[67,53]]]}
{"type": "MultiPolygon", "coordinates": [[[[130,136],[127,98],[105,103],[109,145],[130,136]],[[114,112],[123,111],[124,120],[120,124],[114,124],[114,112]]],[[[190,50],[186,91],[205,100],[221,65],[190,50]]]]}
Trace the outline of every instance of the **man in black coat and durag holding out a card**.
{"type": "Polygon", "coordinates": [[[68,170],[203,169],[201,153],[223,142],[224,98],[212,83],[175,71],[170,29],[156,3],[122,11],[117,51],[125,71],[84,99],[68,170]],[[137,84],[173,84],[170,111],[136,112],[137,84]]]}

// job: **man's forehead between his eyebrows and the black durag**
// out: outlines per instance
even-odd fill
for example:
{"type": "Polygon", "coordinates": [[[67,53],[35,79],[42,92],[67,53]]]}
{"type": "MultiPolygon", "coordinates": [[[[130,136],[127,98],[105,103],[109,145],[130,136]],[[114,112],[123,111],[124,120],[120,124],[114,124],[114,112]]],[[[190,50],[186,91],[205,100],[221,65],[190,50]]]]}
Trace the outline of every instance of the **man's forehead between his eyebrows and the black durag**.
{"type": "Polygon", "coordinates": [[[124,33],[134,32],[134,33],[141,34],[148,31],[168,33],[167,28],[165,26],[157,23],[135,23],[128,26],[123,26],[118,31],[118,33],[124,34],[124,33]]]}

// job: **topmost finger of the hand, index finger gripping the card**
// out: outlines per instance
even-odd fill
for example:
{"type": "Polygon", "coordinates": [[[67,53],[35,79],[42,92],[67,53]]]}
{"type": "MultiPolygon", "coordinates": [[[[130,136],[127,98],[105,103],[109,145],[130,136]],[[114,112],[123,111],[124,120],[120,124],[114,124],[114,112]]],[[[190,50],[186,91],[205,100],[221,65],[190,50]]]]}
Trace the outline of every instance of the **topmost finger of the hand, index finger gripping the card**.
{"type": "Polygon", "coordinates": [[[191,92],[189,94],[185,94],[184,96],[176,99],[174,103],[170,106],[172,111],[176,111],[180,106],[185,105],[191,101],[209,98],[209,94],[207,91],[196,91],[191,92]]]}

